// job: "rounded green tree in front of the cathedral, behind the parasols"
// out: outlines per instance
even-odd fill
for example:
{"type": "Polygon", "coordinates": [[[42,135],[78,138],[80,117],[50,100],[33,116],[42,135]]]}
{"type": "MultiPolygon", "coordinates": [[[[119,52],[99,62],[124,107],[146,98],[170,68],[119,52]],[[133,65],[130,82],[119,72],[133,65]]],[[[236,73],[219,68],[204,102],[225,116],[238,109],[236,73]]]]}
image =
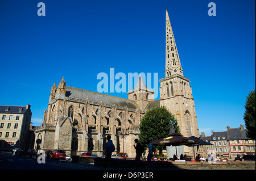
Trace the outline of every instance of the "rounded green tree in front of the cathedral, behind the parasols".
{"type": "MultiPolygon", "coordinates": [[[[145,113],[139,125],[139,142],[145,147],[148,146],[148,141],[152,142],[166,137],[170,132],[170,120],[175,122],[175,117],[164,106],[154,107],[145,113]]],[[[176,124],[174,125],[175,132],[180,133],[180,128],[176,124]]],[[[166,149],[166,146],[156,146],[156,149],[162,151],[166,149]]]]}

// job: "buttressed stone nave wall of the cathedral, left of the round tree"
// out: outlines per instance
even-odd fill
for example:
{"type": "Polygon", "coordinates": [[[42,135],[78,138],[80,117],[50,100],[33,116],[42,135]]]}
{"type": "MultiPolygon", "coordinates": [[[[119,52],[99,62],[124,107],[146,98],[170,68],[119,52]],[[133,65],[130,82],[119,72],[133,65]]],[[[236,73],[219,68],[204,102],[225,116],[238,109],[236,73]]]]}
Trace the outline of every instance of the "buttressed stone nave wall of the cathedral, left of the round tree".
{"type": "Polygon", "coordinates": [[[90,152],[104,154],[106,136],[112,136],[116,153],[123,151],[122,133],[126,133],[125,152],[135,157],[134,139],[138,138],[138,129],[143,113],[138,109],[85,102],[74,102],[67,99],[49,99],[48,110],[44,112],[43,127],[52,127],[47,131],[41,127],[38,134],[45,140],[43,149],[64,149],[72,154],[90,152]],[[60,124],[64,121],[64,124],[60,124]],[[122,132],[122,133],[121,133],[122,132]],[[72,148],[72,141],[77,140],[77,147],[72,148]]]}

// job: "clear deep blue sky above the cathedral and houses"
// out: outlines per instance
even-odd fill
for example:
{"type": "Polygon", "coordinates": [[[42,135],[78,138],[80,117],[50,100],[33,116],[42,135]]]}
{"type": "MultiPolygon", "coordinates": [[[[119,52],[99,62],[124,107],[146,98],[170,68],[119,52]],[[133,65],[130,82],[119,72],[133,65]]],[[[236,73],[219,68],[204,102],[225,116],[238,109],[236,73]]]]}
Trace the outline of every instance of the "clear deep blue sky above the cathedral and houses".
{"type": "Polygon", "coordinates": [[[164,78],[165,3],[200,133],[244,125],[245,98],[255,89],[254,0],[1,0],[0,105],[31,104],[40,125],[62,77],[90,91],[110,68],[164,78]],[[46,16],[38,16],[39,2],[46,16]],[[208,16],[209,2],[217,16],[208,16]]]}

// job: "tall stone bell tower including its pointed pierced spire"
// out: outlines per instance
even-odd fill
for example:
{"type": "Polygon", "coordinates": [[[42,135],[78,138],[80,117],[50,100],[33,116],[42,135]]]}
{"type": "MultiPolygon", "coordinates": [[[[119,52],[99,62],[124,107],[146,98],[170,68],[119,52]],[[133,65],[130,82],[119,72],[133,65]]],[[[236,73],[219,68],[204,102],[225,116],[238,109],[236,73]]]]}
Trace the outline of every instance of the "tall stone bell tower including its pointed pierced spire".
{"type": "MultiPolygon", "coordinates": [[[[166,10],[166,66],[165,78],[160,79],[160,106],[166,106],[176,117],[181,134],[186,137],[199,137],[195,103],[189,82],[183,75],[174,32],[166,10]]],[[[184,147],[185,154],[188,150],[184,147]]]]}

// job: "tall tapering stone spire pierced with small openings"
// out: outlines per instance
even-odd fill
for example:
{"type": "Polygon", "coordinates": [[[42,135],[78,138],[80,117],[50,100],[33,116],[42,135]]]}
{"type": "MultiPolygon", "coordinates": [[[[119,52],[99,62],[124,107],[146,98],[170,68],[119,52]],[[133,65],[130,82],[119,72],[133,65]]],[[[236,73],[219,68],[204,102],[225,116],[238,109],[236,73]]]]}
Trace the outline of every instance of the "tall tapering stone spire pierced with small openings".
{"type": "Polygon", "coordinates": [[[183,69],[181,68],[174,32],[172,31],[170,18],[166,10],[166,77],[174,74],[183,76],[183,69]]]}

